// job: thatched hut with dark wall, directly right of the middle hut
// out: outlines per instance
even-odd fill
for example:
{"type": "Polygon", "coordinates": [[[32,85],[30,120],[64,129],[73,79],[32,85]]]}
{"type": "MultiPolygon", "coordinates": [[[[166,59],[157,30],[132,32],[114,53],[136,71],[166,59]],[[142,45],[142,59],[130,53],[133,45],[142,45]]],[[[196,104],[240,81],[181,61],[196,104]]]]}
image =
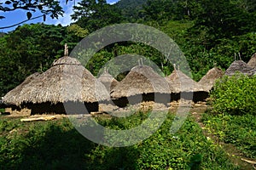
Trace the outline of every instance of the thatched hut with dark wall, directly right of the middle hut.
{"type": "Polygon", "coordinates": [[[204,91],[201,85],[197,84],[193,79],[185,75],[174,65],[172,74],[166,77],[166,81],[174,88],[172,100],[188,99],[197,102],[206,99],[208,94],[204,91]]]}

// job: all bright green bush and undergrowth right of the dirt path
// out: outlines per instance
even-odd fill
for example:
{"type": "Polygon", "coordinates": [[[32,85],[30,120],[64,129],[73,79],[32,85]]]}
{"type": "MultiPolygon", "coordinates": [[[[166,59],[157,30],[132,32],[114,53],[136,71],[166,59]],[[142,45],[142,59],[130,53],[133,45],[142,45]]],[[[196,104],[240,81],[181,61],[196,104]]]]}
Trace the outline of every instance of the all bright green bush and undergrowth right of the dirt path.
{"type": "Polygon", "coordinates": [[[221,78],[211,94],[212,110],[202,117],[209,133],[251,158],[256,158],[255,83],[255,76],[221,78]]]}

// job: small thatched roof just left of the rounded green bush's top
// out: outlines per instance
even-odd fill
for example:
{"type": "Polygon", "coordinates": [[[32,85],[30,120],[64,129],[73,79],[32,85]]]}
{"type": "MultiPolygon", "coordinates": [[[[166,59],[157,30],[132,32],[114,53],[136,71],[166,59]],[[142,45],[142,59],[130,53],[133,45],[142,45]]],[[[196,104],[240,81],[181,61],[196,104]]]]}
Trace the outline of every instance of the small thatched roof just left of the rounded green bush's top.
{"type": "Polygon", "coordinates": [[[217,68],[217,67],[213,67],[211,70],[207,71],[207,74],[201,78],[201,80],[198,82],[198,84],[204,88],[204,90],[206,92],[209,92],[215,81],[220,78],[220,77],[223,77],[224,75],[224,72],[217,68]]]}

